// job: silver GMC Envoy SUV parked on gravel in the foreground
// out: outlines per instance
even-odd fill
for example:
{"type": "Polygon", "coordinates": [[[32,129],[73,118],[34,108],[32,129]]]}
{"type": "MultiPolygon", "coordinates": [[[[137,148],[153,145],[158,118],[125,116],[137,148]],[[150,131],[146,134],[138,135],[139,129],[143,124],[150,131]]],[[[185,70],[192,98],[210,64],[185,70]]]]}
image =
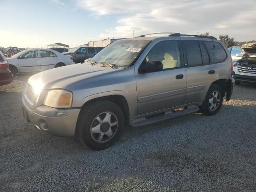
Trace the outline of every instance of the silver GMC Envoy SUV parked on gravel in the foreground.
{"type": "Polygon", "coordinates": [[[77,136],[94,150],[125,126],[216,114],[234,80],[226,46],[212,36],[170,33],[118,40],[86,60],[31,76],[23,114],[42,131],[77,136]]]}

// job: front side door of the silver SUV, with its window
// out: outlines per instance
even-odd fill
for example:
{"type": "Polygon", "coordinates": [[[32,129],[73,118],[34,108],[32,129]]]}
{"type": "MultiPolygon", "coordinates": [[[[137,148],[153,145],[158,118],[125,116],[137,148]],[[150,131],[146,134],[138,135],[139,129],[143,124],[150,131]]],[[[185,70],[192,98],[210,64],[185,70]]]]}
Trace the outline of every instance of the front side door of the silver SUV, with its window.
{"type": "Polygon", "coordinates": [[[186,94],[186,70],[179,40],[161,41],[149,51],[144,62],[160,61],[163,69],[136,74],[138,115],[180,106],[186,94]]]}

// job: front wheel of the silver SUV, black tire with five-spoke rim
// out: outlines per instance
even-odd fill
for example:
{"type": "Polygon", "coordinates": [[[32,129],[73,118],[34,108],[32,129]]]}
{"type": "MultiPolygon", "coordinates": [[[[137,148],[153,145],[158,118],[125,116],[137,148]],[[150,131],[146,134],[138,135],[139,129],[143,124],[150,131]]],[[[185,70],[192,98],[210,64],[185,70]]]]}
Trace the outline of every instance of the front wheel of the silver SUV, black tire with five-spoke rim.
{"type": "Polygon", "coordinates": [[[76,125],[77,136],[93,150],[114,145],[124,130],[124,114],[109,101],[94,102],[80,112],[76,125]]]}

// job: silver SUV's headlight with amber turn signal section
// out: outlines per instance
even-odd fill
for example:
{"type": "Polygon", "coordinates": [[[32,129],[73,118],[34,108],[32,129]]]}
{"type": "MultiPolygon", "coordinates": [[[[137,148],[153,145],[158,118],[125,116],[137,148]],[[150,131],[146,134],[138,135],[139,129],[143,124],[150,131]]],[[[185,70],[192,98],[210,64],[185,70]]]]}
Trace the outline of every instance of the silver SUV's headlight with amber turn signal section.
{"type": "Polygon", "coordinates": [[[72,104],[72,92],[64,89],[46,90],[44,105],[53,108],[70,108],[72,104]]]}

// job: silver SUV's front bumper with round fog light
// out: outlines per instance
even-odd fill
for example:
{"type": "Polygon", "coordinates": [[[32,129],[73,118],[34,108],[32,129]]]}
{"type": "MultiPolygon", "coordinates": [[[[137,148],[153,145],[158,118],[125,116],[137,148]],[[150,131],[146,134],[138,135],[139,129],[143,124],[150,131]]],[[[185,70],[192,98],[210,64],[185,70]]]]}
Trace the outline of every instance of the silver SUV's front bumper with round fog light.
{"type": "Polygon", "coordinates": [[[22,94],[23,115],[28,122],[32,122],[37,128],[57,136],[74,136],[76,122],[80,108],[55,109],[48,106],[30,108],[22,94]],[[67,112],[65,116],[55,116],[56,112],[67,112]]]}

